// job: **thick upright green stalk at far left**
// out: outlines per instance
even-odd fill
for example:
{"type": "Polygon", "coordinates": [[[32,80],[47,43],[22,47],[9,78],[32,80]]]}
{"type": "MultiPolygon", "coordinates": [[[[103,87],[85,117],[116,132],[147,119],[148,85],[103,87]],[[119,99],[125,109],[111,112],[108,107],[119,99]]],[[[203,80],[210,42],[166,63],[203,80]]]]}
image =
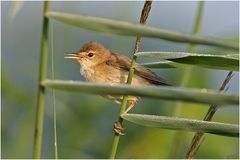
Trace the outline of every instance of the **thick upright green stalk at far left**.
{"type": "Polygon", "coordinates": [[[48,18],[45,14],[49,9],[49,1],[44,1],[44,17],[43,17],[43,30],[41,41],[41,56],[39,67],[39,84],[38,84],[38,96],[37,96],[37,108],[36,108],[36,120],[34,130],[34,144],[33,144],[33,158],[39,159],[41,156],[41,143],[45,110],[45,87],[41,85],[41,81],[46,79],[47,72],[47,56],[48,56],[48,18]]]}

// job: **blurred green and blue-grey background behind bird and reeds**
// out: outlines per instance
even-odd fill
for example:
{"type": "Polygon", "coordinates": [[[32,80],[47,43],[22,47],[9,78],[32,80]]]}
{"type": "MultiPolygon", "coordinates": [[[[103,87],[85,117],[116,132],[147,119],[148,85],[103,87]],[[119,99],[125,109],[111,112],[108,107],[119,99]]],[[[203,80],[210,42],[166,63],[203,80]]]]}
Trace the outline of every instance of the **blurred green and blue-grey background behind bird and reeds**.
{"type": "MultiPolygon", "coordinates": [[[[238,40],[239,2],[205,2],[201,35],[238,40]]],[[[31,158],[37,97],[43,2],[20,3],[14,15],[14,2],[1,2],[1,157],[31,158]]],[[[138,22],[144,2],[51,2],[50,10],[116,20],[138,22]]],[[[18,4],[19,5],[19,4],[18,4]]],[[[153,2],[148,25],[191,33],[197,2],[153,2]]],[[[55,79],[83,80],[76,62],[66,61],[66,52],[75,52],[85,42],[103,43],[112,51],[131,57],[135,37],[106,35],[52,22],[55,79]]],[[[143,38],[141,51],[186,51],[188,44],[143,38]]],[[[233,53],[230,50],[198,46],[199,53],[233,53]],[[217,51],[217,52],[216,52],[217,51]]],[[[139,59],[139,62],[142,62],[139,59]]],[[[145,60],[146,62],[146,60],[145,60]]],[[[50,56],[48,77],[50,78],[50,56]]],[[[154,70],[169,83],[179,85],[182,69],[154,70]]],[[[194,68],[188,87],[217,90],[227,71],[194,68]]],[[[228,92],[238,93],[236,72],[228,92]]],[[[42,158],[53,158],[53,109],[47,90],[42,158]]],[[[172,116],[176,102],[142,98],[132,112],[172,116]]],[[[113,140],[113,123],[119,105],[98,95],[56,91],[59,158],[108,158],[113,140]]],[[[178,117],[203,119],[208,107],[186,103],[178,117]]],[[[213,121],[239,122],[236,106],[220,108],[213,121]]],[[[168,158],[175,133],[182,139],[174,158],[183,158],[192,132],[153,129],[125,122],[118,158],[168,158]]],[[[237,156],[238,138],[207,134],[196,158],[237,156]]]]}

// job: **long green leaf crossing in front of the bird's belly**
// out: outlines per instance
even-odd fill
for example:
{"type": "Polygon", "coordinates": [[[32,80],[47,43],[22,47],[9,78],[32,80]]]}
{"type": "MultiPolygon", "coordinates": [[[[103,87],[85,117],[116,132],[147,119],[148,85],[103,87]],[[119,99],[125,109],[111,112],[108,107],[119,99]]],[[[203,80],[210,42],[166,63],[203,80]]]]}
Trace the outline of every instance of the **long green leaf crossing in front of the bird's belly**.
{"type": "Polygon", "coordinates": [[[207,89],[189,89],[165,86],[140,86],[140,85],[109,85],[100,83],[45,80],[42,85],[66,91],[78,91],[101,95],[136,95],[167,100],[181,100],[207,104],[238,104],[239,96],[229,93],[219,93],[207,89]]]}

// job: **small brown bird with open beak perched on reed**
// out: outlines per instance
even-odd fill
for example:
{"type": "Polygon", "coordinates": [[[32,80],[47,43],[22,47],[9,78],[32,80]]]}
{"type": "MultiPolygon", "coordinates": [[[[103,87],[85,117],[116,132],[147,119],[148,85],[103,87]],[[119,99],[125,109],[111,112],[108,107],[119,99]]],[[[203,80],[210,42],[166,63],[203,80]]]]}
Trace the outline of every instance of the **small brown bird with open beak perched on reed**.
{"type": "MultiPolygon", "coordinates": [[[[66,54],[65,58],[75,59],[81,65],[80,72],[87,81],[97,83],[124,84],[127,82],[131,60],[122,54],[109,51],[97,42],[88,42],[77,53],[66,54]]],[[[132,85],[169,85],[151,70],[136,67],[132,85]]],[[[107,95],[106,98],[121,103],[123,96],[107,95]]],[[[135,106],[138,97],[128,97],[128,108],[135,106]]]]}

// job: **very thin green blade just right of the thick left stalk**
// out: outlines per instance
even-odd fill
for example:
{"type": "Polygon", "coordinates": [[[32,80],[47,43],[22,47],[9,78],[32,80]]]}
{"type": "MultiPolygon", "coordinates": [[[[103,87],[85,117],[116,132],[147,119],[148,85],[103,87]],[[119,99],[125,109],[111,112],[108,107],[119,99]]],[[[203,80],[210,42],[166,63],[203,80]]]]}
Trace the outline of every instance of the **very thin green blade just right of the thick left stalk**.
{"type": "MultiPolygon", "coordinates": [[[[54,80],[54,50],[53,50],[53,24],[51,24],[51,67],[52,80],[54,80]]],[[[52,89],[52,107],[53,107],[53,137],[54,137],[54,158],[58,159],[58,145],[57,145],[57,110],[56,110],[56,96],[55,89],[52,89]]]]}

